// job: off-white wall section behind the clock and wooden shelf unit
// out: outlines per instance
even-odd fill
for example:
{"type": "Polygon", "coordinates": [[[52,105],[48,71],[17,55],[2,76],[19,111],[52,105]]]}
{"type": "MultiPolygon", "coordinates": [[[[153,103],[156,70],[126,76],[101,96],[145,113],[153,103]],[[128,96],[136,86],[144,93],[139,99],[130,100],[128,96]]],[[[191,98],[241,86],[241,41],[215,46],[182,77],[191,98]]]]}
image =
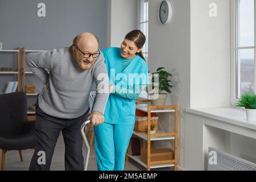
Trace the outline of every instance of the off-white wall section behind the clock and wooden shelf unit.
{"type": "MultiPolygon", "coordinates": [[[[173,19],[165,26],[158,22],[161,0],[149,0],[149,71],[165,67],[173,73],[173,94],[166,104],[179,106],[178,166],[184,160],[185,108],[190,105],[190,1],[172,0],[173,19]]],[[[162,125],[173,129],[173,114],[159,118],[162,125]]],[[[158,142],[161,145],[165,143],[158,142]]]]}

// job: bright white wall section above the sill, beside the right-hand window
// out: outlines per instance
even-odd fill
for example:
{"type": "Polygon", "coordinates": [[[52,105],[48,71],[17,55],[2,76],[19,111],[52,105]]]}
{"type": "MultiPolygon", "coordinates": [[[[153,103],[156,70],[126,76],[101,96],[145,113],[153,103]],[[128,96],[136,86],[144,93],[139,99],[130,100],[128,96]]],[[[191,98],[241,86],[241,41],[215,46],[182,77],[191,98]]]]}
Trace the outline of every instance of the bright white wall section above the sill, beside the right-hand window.
{"type": "Polygon", "coordinates": [[[190,107],[228,106],[230,0],[191,0],[190,107]],[[209,16],[210,3],[217,17],[209,16]]]}

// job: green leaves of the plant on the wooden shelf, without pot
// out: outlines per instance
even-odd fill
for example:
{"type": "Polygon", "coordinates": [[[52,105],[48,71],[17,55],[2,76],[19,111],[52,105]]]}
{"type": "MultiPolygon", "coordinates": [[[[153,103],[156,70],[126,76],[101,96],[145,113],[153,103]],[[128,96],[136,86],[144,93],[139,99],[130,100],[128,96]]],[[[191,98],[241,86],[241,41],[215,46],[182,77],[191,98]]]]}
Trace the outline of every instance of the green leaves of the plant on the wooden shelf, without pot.
{"type": "Polygon", "coordinates": [[[157,71],[152,73],[152,85],[147,86],[147,92],[150,92],[151,90],[154,90],[155,85],[159,86],[158,93],[161,94],[163,91],[167,93],[171,93],[171,88],[173,87],[170,85],[170,77],[173,76],[171,73],[165,71],[165,67],[159,67],[157,68],[157,71]],[[159,83],[155,83],[155,77],[158,74],[158,81],[159,83]]]}

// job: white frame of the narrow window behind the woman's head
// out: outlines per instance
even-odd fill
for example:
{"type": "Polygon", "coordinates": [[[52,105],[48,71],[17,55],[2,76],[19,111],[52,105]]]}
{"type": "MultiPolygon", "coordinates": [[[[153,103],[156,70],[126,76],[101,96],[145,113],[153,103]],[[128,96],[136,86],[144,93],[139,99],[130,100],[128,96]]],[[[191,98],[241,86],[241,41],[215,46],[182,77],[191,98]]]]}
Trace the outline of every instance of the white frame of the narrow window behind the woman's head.
{"type": "Polygon", "coordinates": [[[138,0],[138,29],[142,30],[142,24],[147,24],[146,32],[143,32],[146,36],[146,42],[143,47],[145,47],[145,51],[142,51],[143,55],[147,54],[146,63],[148,63],[149,60],[149,44],[148,44],[148,37],[149,37],[149,1],[148,0],[138,0]],[[144,3],[146,3],[146,7],[144,6],[144,3]],[[141,22],[142,17],[146,14],[147,18],[146,21],[141,22]]]}

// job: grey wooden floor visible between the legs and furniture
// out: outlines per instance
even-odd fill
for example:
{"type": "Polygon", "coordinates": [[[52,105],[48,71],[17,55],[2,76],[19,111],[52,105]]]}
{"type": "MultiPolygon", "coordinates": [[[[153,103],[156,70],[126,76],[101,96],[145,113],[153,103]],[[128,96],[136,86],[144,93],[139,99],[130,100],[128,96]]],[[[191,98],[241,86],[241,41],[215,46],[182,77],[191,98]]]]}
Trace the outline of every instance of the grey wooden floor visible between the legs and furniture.
{"type": "MultiPolygon", "coordinates": [[[[58,142],[55,147],[53,160],[51,163],[51,170],[52,171],[63,171],[64,168],[64,151],[65,145],[63,142],[62,134],[59,135],[58,142]]],[[[83,146],[83,154],[85,154],[85,146],[83,146]]],[[[30,160],[32,158],[34,150],[23,150],[23,162],[19,159],[19,152],[18,151],[9,151],[6,153],[6,160],[5,160],[5,171],[26,171],[29,169],[30,160]]],[[[2,156],[2,150],[0,152],[2,156]]],[[[88,170],[96,171],[97,170],[97,163],[95,158],[95,149],[94,146],[91,146],[90,152],[90,159],[88,164],[88,170]]],[[[168,170],[171,171],[173,168],[157,168],[152,169],[152,171],[156,170],[168,170]]],[[[129,160],[125,164],[125,171],[146,171],[146,168],[135,162],[134,160],[129,160]]]]}

